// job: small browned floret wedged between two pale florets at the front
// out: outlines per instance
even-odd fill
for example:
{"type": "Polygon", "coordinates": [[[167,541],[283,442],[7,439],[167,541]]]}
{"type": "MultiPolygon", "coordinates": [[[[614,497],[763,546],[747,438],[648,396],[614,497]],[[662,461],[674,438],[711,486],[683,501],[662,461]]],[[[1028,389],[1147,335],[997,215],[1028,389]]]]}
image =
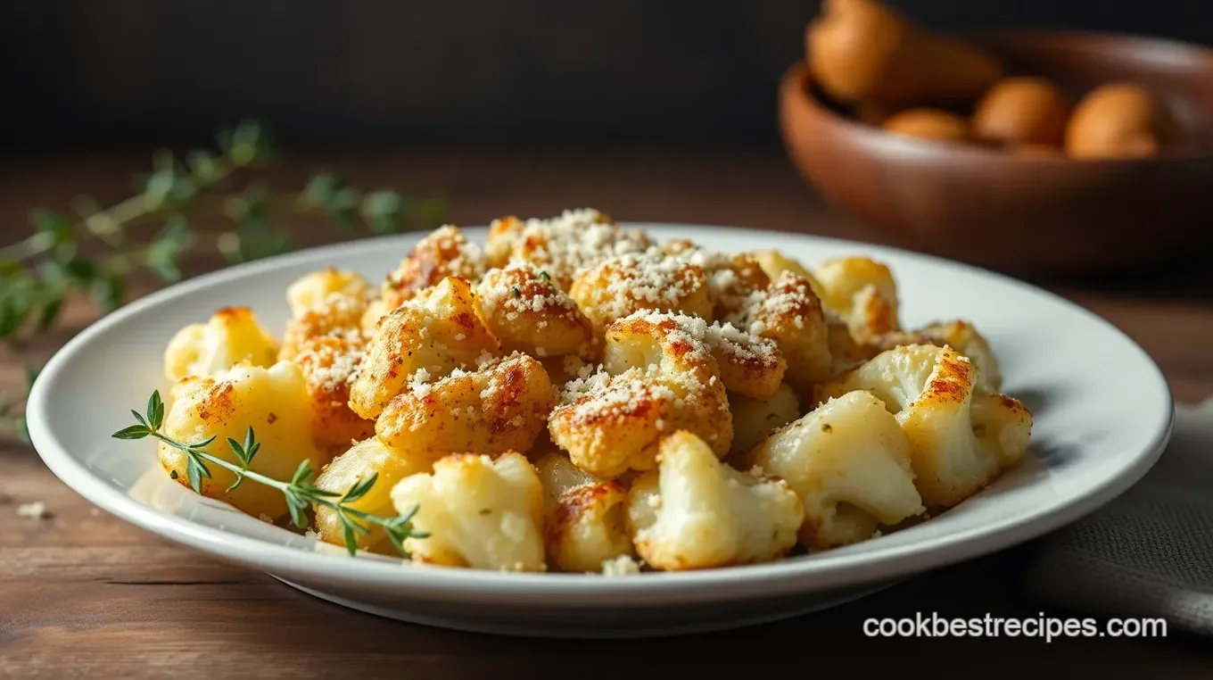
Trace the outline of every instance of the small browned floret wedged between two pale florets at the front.
{"type": "Polygon", "coordinates": [[[606,560],[632,555],[622,484],[582,472],[559,452],[535,467],[546,493],[543,534],[552,563],[566,572],[598,572],[606,560]]]}

